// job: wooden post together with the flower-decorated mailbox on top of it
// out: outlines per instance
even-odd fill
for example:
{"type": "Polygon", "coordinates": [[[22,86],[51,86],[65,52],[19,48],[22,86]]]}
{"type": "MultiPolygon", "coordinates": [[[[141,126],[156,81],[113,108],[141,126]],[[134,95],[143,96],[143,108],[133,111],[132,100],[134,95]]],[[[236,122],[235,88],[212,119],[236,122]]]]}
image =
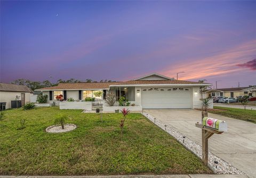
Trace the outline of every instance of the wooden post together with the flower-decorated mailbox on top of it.
{"type": "Polygon", "coordinates": [[[196,127],[202,129],[202,161],[204,165],[208,164],[208,139],[215,133],[221,134],[227,131],[225,121],[204,117],[202,124],[196,123],[196,127]],[[209,124],[207,124],[207,121],[209,124]]]}

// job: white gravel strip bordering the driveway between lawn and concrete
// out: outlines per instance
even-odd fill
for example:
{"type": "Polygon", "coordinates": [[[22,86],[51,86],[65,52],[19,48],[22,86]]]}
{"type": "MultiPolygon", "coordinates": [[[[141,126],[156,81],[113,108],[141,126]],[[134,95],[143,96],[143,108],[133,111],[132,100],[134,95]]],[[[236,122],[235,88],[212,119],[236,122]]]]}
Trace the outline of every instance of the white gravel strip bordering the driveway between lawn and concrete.
{"type": "MultiPolygon", "coordinates": [[[[165,132],[172,135],[176,140],[178,140],[185,148],[187,148],[189,151],[193,152],[197,157],[202,159],[202,147],[201,145],[195,143],[194,141],[190,140],[188,137],[185,137],[184,143],[183,143],[183,136],[181,133],[175,131],[170,126],[165,126],[161,121],[157,120],[153,116],[149,115],[147,112],[141,112],[141,114],[145,117],[147,117],[151,122],[153,122],[158,127],[162,128],[165,132]]],[[[243,174],[242,171],[238,170],[231,164],[227,163],[226,161],[222,160],[221,158],[213,155],[211,151],[209,151],[209,161],[208,166],[214,171],[215,174],[243,174]],[[215,168],[214,161],[218,161],[217,168],[215,168]]]]}

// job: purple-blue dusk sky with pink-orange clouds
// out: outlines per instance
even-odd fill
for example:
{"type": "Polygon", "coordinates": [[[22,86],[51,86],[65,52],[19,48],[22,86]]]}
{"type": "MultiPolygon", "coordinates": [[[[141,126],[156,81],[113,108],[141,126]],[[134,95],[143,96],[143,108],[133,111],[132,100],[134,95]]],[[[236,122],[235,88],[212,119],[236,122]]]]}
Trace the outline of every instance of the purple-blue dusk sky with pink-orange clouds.
{"type": "Polygon", "coordinates": [[[158,72],[256,85],[256,1],[1,1],[0,82],[158,72]]]}

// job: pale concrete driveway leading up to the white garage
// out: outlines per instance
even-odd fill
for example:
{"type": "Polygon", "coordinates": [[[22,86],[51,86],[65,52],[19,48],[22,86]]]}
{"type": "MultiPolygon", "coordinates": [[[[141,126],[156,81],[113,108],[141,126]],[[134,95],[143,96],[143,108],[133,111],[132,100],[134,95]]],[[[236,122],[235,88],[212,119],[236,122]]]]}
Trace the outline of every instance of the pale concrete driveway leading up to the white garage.
{"type": "MultiPolygon", "coordinates": [[[[202,145],[201,111],[193,109],[145,109],[189,139],[202,145]]],[[[256,124],[209,113],[209,117],[226,120],[228,132],[214,134],[209,139],[209,149],[214,155],[232,164],[249,177],[256,178],[256,124]]]]}

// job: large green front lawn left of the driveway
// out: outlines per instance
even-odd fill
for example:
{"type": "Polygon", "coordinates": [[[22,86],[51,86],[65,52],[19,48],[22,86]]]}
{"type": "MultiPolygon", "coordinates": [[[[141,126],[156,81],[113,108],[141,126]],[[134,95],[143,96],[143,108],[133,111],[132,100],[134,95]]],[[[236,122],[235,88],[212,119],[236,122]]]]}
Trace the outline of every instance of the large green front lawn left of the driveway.
{"type": "Polygon", "coordinates": [[[141,114],[129,114],[121,136],[121,114],[42,107],[6,111],[0,121],[1,175],[209,174],[193,153],[141,114]],[[68,116],[74,131],[46,133],[54,117],[68,116]],[[25,128],[17,130],[21,118],[25,128]]]}

